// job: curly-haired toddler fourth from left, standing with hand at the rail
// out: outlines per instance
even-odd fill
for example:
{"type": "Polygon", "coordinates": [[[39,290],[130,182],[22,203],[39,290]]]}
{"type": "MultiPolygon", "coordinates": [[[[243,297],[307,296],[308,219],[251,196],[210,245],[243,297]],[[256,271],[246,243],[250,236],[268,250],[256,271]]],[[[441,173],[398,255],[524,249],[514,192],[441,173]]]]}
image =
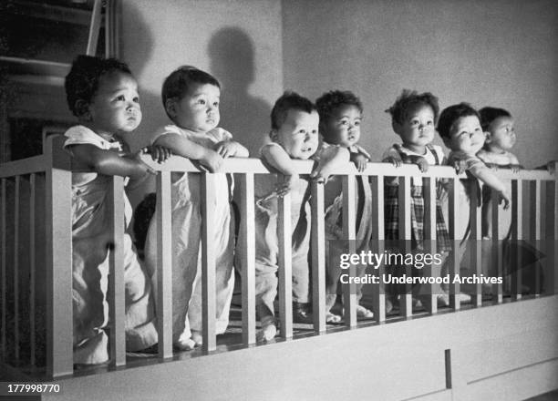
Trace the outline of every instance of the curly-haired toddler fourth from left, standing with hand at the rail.
{"type": "MultiPolygon", "coordinates": [[[[322,149],[331,147],[348,149],[349,157],[356,169],[363,171],[370,161],[368,152],[358,146],[362,103],[350,91],[334,90],[323,94],[315,101],[320,116],[320,134],[324,140],[322,149]]],[[[367,177],[356,176],[356,253],[368,251],[372,232],[372,192],[367,177]]],[[[337,283],[341,274],[336,255],[331,258],[330,241],[343,240],[343,193],[341,177],[335,176],[325,186],[325,258],[326,258],[326,322],[338,323],[341,317],[332,314],[336,303],[337,283]]],[[[356,274],[365,274],[364,266],[357,266],[356,274]]],[[[358,300],[362,298],[362,284],[357,285],[358,300]]],[[[356,316],[360,319],[374,317],[364,306],[356,305],[356,316]]]]}

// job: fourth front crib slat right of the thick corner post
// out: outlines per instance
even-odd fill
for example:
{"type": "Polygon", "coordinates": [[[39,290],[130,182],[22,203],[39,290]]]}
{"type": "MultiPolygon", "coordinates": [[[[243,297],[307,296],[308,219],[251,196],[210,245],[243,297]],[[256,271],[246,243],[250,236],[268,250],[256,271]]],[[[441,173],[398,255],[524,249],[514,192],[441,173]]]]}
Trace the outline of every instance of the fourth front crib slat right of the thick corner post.
{"type": "Polygon", "coordinates": [[[243,286],[243,344],[254,344],[255,335],[255,231],[253,173],[240,176],[241,186],[241,274],[243,286]]]}

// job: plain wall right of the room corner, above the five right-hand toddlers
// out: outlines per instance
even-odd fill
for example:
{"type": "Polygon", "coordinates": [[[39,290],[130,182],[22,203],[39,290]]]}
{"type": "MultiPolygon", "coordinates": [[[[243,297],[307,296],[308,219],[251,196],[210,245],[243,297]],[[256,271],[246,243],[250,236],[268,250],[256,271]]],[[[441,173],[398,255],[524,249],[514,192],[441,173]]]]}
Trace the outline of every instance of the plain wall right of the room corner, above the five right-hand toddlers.
{"type": "MultiPolygon", "coordinates": [[[[508,108],[523,164],[558,159],[558,2],[553,0],[284,0],[284,84],[310,98],[362,98],[362,143],[374,158],[398,140],[390,106],[402,88],[445,108],[508,108]]],[[[438,139],[438,143],[441,141],[438,139]]]]}

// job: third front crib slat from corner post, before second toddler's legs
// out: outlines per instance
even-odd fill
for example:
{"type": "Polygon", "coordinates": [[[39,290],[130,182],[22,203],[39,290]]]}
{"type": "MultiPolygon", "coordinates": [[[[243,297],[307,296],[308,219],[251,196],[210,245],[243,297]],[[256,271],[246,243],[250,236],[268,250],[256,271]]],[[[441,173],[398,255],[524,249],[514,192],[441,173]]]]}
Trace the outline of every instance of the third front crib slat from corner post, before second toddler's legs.
{"type": "Polygon", "coordinates": [[[202,338],[203,350],[217,348],[215,332],[215,175],[202,173],[202,338]]]}

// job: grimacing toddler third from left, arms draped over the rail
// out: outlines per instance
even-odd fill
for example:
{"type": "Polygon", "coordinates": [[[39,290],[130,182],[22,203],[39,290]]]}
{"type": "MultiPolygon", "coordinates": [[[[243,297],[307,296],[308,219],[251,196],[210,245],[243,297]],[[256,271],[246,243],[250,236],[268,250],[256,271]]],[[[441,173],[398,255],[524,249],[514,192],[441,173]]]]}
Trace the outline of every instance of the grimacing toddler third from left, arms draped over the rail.
{"type": "MultiPolygon", "coordinates": [[[[292,266],[294,321],[311,323],[308,313],[308,251],[310,246],[310,204],[308,181],[302,180],[293,160],[314,157],[318,149],[319,116],[315,105],[294,92],[285,92],[275,102],[271,114],[272,142],[261,149],[263,162],[284,175],[284,181],[274,184],[268,177],[256,182],[255,208],[255,286],[256,311],[262,329],[258,341],[274,338],[277,327],[274,299],[277,294],[277,197],[291,194],[291,227],[293,230],[292,266]]],[[[336,162],[347,162],[348,154],[332,149],[318,163],[312,177],[325,180],[336,162]]]]}

